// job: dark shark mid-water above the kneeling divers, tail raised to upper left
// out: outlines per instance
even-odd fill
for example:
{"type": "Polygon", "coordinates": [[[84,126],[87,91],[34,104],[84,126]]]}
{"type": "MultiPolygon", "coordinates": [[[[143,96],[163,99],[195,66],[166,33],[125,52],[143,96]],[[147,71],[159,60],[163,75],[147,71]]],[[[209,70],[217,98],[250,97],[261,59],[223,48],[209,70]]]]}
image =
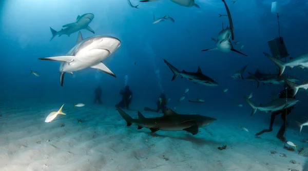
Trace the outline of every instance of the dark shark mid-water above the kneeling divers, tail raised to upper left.
{"type": "Polygon", "coordinates": [[[210,77],[204,75],[198,67],[197,72],[186,72],[186,71],[179,71],[177,68],[172,66],[167,60],[165,60],[166,65],[169,67],[169,69],[174,73],[174,76],[172,77],[171,81],[175,80],[178,76],[181,76],[182,78],[187,78],[191,80],[193,83],[199,83],[204,86],[218,86],[218,83],[211,79],[210,77]]]}

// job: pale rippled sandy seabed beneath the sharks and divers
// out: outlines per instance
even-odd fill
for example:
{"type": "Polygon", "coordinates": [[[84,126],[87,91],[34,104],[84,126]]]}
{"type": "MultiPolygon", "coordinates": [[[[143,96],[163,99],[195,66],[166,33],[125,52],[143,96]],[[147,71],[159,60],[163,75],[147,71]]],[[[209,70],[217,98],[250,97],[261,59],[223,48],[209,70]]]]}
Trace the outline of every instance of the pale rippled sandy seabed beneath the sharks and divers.
{"type": "MultiPolygon", "coordinates": [[[[195,136],[185,131],[150,133],[135,125],[127,127],[114,107],[65,104],[67,115],[45,123],[61,105],[1,104],[0,170],[305,170],[306,158],[284,149],[275,137],[279,126],[255,138],[268,125],[255,124],[254,119],[241,121],[246,132],[238,120],[209,112],[204,115],[218,120],[195,136]],[[223,145],[227,147],[220,151],[223,145]]],[[[126,112],[137,118],[137,111],[126,112]]],[[[145,117],[162,115],[141,112],[145,117]]],[[[304,137],[298,130],[287,131],[297,150],[308,146],[301,142],[304,137]]]]}

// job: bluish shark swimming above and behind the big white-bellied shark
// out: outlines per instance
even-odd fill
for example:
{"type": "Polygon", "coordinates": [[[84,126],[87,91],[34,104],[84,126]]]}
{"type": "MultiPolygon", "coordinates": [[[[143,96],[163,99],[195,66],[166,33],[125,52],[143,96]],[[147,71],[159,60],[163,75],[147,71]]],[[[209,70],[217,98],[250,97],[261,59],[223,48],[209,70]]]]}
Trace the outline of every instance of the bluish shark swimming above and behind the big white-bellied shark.
{"type": "Polygon", "coordinates": [[[61,29],[60,31],[55,31],[50,27],[50,31],[52,33],[52,37],[50,40],[52,40],[56,35],[59,35],[59,37],[63,34],[70,36],[72,33],[78,32],[82,29],[86,29],[95,34],[94,30],[88,26],[92,22],[93,18],[94,14],[86,13],[83,14],[82,16],[78,15],[75,23],[70,23],[62,26],[65,28],[61,29]]]}

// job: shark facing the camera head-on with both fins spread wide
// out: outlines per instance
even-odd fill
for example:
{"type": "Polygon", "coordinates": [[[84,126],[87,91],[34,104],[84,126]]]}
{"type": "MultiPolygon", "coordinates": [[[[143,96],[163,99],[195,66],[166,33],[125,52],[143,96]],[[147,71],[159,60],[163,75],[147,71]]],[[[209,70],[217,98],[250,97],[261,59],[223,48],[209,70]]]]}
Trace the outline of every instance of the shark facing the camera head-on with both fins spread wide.
{"type": "Polygon", "coordinates": [[[222,31],[219,32],[217,39],[216,39],[216,48],[204,49],[204,51],[212,51],[212,50],[220,50],[224,53],[229,53],[230,51],[237,52],[241,55],[247,56],[244,53],[236,50],[233,48],[232,42],[230,41],[230,37],[232,36],[232,29],[229,27],[223,28],[222,31]]]}

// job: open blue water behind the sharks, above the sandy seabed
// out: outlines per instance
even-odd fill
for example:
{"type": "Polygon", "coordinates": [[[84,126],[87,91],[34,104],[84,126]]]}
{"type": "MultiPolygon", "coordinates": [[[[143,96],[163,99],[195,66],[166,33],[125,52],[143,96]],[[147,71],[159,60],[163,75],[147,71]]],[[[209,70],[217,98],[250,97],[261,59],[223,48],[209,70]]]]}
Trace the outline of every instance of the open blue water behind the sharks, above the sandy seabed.
{"type": "MultiPolygon", "coordinates": [[[[306,53],[308,34],[306,34],[307,4],[302,1],[279,1],[282,5],[280,15],[281,35],[292,57],[306,53]]],[[[5,1],[2,2],[1,20],[1,68],[0,100],[2,101],[40,101],[44,103],[91,103],[93,91],[100,85],[103,89],[103,103],[113,106],[121,99],[120,89],[127,84],[133,92],[131,108],[142,110],[144,106],[155,108],[161,92],[171,98],[169,108],[178,112],[216,111],[226,117],[249,115],[251,108],[243,96],[253,92],[253,100],[267,102],[272,93],[278,94],[283,85],[261,84],[246,80],[233,80],[235,71],[247,63],[247,71],[254,73],[276,72],[274,65],[262,52],[269,53],[267,40],[278,36],[277,17],[271,13],[272,1],[241,1],[235,4],[227,1],[233,17],[235,41],[244,45],[243,53],[222,53],[220,51],[201,52],[214,48],[222,22],[228,25],[221,1],[196,1],[200,8],[182,7],[169,1],[140,3],[131,0],[139,9],[131,8],[123,1],[5,1]],[[95,35],[109,35],[121,40],[121,47],[104,63],[117,75],[116,78],[103,72],[87,68],[66,74],[64,86],[59,83],[60,62],[38,60],[41,57],[65,55],[76,42],[78,32],[51,41],[49,27],[60,30],[62,25],[72,23],[78,15],[95,15],[89,26],[95,35]],[[170,20],[152,24],[152,17],[170,15],[170,20]],[[180,71],[202,72],[219,83],[218,87],[193,84],[189,80],[177,78],[171,81],[172,72],[163,58],[180,71]],[[137,65],[134,65],[137,62],[137,65]],[[29,74],[37,71],[40,77],[29,74]],[[178,103],[185,89],[189,92],[185,100],[178,103]],[[222,93],[223,89],[228,89],[222,93]],[[187,100],[202,98],[204,103],[194,104],[187,100]],[[243,104],[240,108],[238,104],[243,104]],[[229,116],[229,113],[235,113],[229,116]]],[[[83,37],[93,34],[81,30],[83,37]]],[[[297,68],[286,70],[285,74],[307,79],[305,70],[297,68]]],[[[301,102],[290,115],[290,119],[300,119],[305,113],[306,93],[299,92],[301,102]]],[[[254,117],[264,117],[261,114],[254,117]]],[[[253,118],[252,118],[253,119],[253,118]]],[[[280,118],[279,118],[280,119],[280,118]]],[[[267,120],[268,121],[268,120],[267,120]]],[[[263,127],[260,127],[263,129],[263,127]]],[[[265,129],[265,128],[264,128],[265,129]]]]}

